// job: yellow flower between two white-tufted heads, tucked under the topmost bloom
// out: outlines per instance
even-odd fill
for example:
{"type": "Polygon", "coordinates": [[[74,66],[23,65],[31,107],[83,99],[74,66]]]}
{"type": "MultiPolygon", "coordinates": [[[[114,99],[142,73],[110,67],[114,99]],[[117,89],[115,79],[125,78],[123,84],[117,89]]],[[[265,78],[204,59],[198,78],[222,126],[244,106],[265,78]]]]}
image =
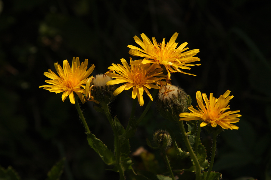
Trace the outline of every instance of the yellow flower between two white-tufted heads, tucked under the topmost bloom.
{"type": "MultiPolygon", "coordinates": [[[[107,76],[115,78],[111,81],[108,81],[106,85],[114,85],[126,82],[124,85],[121,85],[119,88],[117,88],[114,91],[113,95],[116,96],[120,94],[123,90],[128,90],[133,87],[132,98],[135,99],[137,96],[140,106],[143,106],[144,104],[144,91],[147,93],[151,101],[153,101],[153,98],[148,89],[159,88],[157,85],[154,84],[159,83],[161,79],[165,78],[154,76],[163,76],[161,72],[163,69],[157,64],[137,64],[131,65],[131,67],[129,67],[128,63],[123,58],[121,59],[121,62],[123,66],[120,64],[112,64],[113,66],[108,67],[108,69],[110,69],[111,71],[108,71],[106,73],[107,76]]],[[[130,58],[130,62],[132,62],[132,58],[130,58]]]]}

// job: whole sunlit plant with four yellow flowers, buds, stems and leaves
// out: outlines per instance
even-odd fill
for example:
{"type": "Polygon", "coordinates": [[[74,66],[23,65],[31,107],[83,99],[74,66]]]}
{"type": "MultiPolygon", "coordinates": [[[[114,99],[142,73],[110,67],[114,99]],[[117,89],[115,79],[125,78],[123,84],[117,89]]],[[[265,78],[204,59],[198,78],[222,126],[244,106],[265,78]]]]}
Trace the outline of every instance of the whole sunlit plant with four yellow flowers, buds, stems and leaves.
{"type": "MultiPolygon", "coordinates": [[[[165,38],[162,43],[157,43],[155,38],[152,41],[145,35],[141,34],[142,40],[135,36],[135,42],[140,46],[128,45],[129,54],[136,56],[136,60],[130,57],[129,62],[124,58],[121,59],[122,64],[112,64],[108,67],[108,71],[104,74],[98,74],[95,77],[90,76],[95,66],[88,69],[88,60],[80,64],[79,58],[73,58],[71,67],[67,60],[63,61],[63,68],[55,63],[57,73],[51,70],[44,72],[44,75],[50,80],[45,80],[49,85],[42,85],[40,88],[49,90],[50,92],[63,93],[62,101],[69,96],[70,102],[75,104],[80,119],[86,128],[86,135],[89,146],[98,153],[105,164],[112,165],[113,171],[120,175],[120,179],[124,180],[126,171],[131,170],[137,177],[145,179],[179,179],[185,171],[195,174],[196,180],[213,180],[220,179],[221,174],[212,171],[214,156],[216,152],[216,137],[221,131],[231,129],[237,130],[238,127],[233,125],[239,121],[239,110],[229,110],[229,101],[233,98],[230,91],[227,90],[219,98],[214,98],[210,93],[209,99],[205,93],[196,92],[196,101],[198,103],[195,109],[191,106],[191,97],[187,93],[171,84],[171,73],[183,73],[193,75],[187,71],[190,66],[201,65],[195,64],[200,61],[195,57],[199,49],[188,50],[187,44],[182,43],[177,46],[176,38],[178,33],[170,38],[166,43],[165,38]],[[153,93],[150,90],[153,89],[153,93]],[[129,95],[134,99],[131,116],[127,127],[123,127],[117,116],[110,113],[109,104],[114,103],[115,96],[123,91],[130,91],[129,95]],[[137,101],[140,106],[144,105],[143,94],[147,94],[149,102],[145,110],[139,117],[135,119],[135,110],[137,101]],[[158,95],[157,95],[158,94],[158,95]],[[158,130],[154,133],[154,143],[147,139],[147,144],[153,149],[159,149],[163,155],[167,166],[167,173],[157,175],[148,171],[133,170],[133,162],[130,158],[130,141],[133,137],[138,125],[149,110],[155,96],[157,98],[157,111],[170,123],[176,123],[179,126],[182,140],[176,138],[176,135],[169,128],[158,130]],[[95,103],[95,110],[104,113],[107,117],[111,128],[114,132],[114,150],[108,149],[104,143],[96,138],[90,132],[86,120],[80,109],[78,99],[84,104],[87,101],[95,103]],[[137,99],[137,100],[136,100],[137,99]],[[186,121],[187,128],[185,128],[186,121]],[[210,161],[207,159],[207,153],[201,143],[201,128],[207,130],[213,136],[213,148],[210,161]],[[188,152],[183,151],[178,146],[178,141],[184,141],[188,152]],[[170,161],[167,157],[167,149],[173,147],[180,161],[183,158],[191,158],[191,167],[182,170],[172,169],[170,161]]],[[[145,99],[146,101],[146,99],[145,99]]],[[[60,168],[61,169],[61,168],[60,168]]],[[[58,173],[60,176],[61,173],[58,173]]]]}

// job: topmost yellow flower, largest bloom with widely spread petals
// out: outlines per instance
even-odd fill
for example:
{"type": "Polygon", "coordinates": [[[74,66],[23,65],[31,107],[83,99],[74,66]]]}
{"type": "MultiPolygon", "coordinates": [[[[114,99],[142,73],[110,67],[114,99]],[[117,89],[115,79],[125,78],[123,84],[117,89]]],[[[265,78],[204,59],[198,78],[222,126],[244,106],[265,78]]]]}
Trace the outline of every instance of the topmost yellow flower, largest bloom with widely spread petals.
{"type": "Polygon", "coordinates": [[[195,76],[194,74],[183,72],[180,69],[189,70],[191,68],[187,66],[201,65],[201,64],[188,64],[191,62],[200,61],[199,58],[193,57],[199,52],[199,49],[193,49],[193,50],[184,52],[185,50],[188,49],[188,47],[185,48],[185,46],[188,43],[183,43],[178,48],[176,48],[178,44],[175,42],[177,36],[178,36],[178,33],[174,33],[174,35],[170,38],[170,41],[167,44],[165,43],[165,38],[163,39],[162,43],[157,43],[157,41],[153,37],[152,38],[153,44],[152,44],[150,39],[143,33],[141,34],[143,42],[137,36],[135,36],[134,37],[135,42],[139,44],[139,46],[141,46],[142,49],[136,46],[128,45],[128,47],[130,48],[129,54],[143,57],[144,60],[143,61],[135,60],[132,63],[133,64],[156,63],[156,64],[164,65],[168,72],[169,78],[170,78],[170,73],[172,72],[175,72],[175,73],[180,72],[180,73],[195,76]]]}

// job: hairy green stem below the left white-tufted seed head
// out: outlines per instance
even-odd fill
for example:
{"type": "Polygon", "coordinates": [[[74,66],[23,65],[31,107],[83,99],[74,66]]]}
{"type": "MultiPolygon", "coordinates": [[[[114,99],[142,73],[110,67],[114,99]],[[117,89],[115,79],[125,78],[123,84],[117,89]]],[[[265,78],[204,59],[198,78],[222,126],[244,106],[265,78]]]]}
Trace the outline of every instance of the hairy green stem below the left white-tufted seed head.
{"type": "Polygon", "coordinates": [[[123,168],[121,166],[121,161],[120,161],[120,140],[119,140],[119,133],[117,131],[117,128],[116,128],[116,125],[114,123],[114,120],[110,114],[110,111],[109,111],[109,108],[108,108],[108,104],[106,103],[102,103],[101,102],[101,105],[102,105],[102,108],[104,109],[104,113],[111,125],[111,128],[114,132],[114,136],[115,136],[115,148],[116,148],[116,166],[117,166],[117,169],[119,170],[119,173],[120,173],[120,180],[125,180],[125,176],[124,176],[124,172],[123,172],[123,168]]]}

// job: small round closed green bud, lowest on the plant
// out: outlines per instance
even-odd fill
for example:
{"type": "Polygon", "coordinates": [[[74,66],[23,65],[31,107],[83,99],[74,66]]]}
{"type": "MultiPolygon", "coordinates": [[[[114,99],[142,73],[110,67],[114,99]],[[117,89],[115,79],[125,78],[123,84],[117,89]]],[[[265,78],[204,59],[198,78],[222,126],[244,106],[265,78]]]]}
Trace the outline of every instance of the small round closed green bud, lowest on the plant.
{"type": "Polygon", "coordinates": [[[164,130],[158,130],[153,135],[153,140],[159,148],[168,149],[171,146],[172,139],[170,134],[164,130]]]}

